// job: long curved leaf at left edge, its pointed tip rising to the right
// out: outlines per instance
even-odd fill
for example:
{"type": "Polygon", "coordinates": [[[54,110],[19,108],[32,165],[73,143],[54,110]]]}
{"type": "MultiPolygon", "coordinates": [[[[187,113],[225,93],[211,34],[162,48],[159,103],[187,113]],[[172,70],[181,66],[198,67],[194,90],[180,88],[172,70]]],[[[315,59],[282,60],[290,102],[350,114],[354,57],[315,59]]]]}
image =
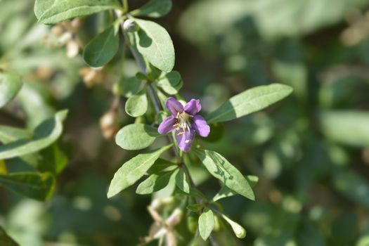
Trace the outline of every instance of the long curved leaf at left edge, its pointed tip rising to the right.
{"type": "Polygon", "coordinates": [[[51,119],[41,122],[32,138],[23,138],[18,141],[0,146],[0,160],[27,155],[46,148],[55,142],[63,131],[63,120],[67,117],[67,110],[59,111],[51,119]]]}

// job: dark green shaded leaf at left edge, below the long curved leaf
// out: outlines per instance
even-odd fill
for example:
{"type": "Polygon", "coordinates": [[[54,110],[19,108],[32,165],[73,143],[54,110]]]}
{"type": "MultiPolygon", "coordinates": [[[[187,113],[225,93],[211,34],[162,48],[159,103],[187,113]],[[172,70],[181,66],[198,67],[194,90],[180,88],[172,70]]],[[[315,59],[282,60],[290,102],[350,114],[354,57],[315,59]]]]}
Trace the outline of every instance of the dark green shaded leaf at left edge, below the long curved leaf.
{"type": "Polygon", "coordinates": [[[47,200],[53,195],[55,179],[53,174],[50,173],[13,173],[0,175],[0,186],[4,186],[29,198],[47,200]]]}

